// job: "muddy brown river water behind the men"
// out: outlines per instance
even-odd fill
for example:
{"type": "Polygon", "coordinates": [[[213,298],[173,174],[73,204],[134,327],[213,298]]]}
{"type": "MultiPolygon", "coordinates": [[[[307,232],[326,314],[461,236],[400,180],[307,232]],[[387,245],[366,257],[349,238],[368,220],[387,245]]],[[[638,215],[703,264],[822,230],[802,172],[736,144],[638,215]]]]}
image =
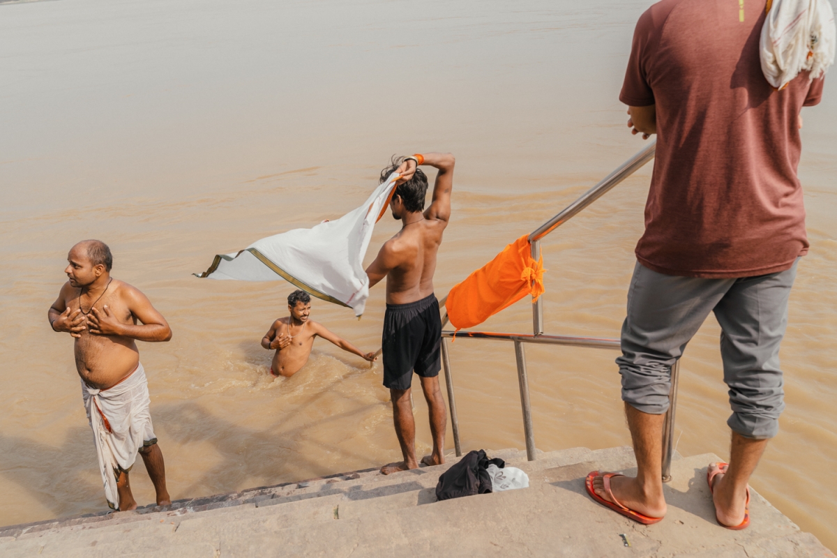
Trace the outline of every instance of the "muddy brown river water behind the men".
{"type": "MultiPolygon", "coordinates": [[[[57,0],[0,6],[0,525],[105,508],[69,335],[46,312],[69,247],[100,238],[114,276],[172,325],[142,345],[173,498],[399,458],[381,367],[320,340],[290,379],[259,346],[289,284],[208,281],[215,253],[362,202],[393,153],[457,156],[439,297],[639,151],[617,95],[650,2],[57,0]]],[[[782,361],[787,410],[753,486],[837,550],[837,90],[804,110],[811,251],[782,361]]],[[[650,165],[543,244],[545,325],[615,337],[650,165]]],[[[398,223],[382,220],[371,259],[398,223]]],[[[367,351],[362,320],[313,318],[367,351]]],[[[531,330],[524,300],[482,326],[531,330]]],[[[682,360],[677,450],[728,455],[713,317],[682,360]]],[[[610,351],[527,349],[537,446],[629,443],[610,351]]],[[[511,344],[451,349],[465,449],[524,448],[511,344]]],[[[416,398],[419,451],[427,408],[416,398]]],[[[449,433],[449,447],[453,440],[449,433]]],[[[141,504],[153,490],[141,460],[141,504]]],[[[591,504],[592,505],[592,504],[591,504]]],[[[758,518],[753,518],[757,521],[758,518]]]]}

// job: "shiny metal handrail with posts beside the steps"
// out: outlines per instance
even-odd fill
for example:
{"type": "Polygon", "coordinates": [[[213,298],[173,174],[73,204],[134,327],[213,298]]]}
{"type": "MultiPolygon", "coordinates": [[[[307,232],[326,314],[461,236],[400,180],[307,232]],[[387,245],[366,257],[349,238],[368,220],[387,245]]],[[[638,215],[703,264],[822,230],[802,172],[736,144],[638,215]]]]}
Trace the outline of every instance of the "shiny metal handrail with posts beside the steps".
{"type": "MultiPolygon", "coordinates": [[[[538,260],[541,257],[541,239],[552,233],[556,228],[563,223],[578,215],[585,207],[595,202],[599,197],[602,197],[611,188],[615,187],[619,182],[624,181],[625,178],[632,175],[641,166],[650,161],[655,156],[656,141],[650,142],[648,146],[636,155],[625,161],[623,165],[619,166],[615,171],[611,172],[596,186],[584,192],[581,197],[567,206],[562,212],[557,213],[553,218],[543,223],[540,227],[535,229],[529,235],[529,243],[531,245],[531,256],[538,260]]],[[[445,296],[439,302],[439,306],[444,307],[445,296]]],[[[444,314],[443,324],[448,323],[448,316],[444,314]]],[[[454,431],[454,446],[456,448],[457,457],[462,455],[462,448],[460,444],[460,426],[456,413],[456,401],[454,399],[454,385],[453,376],[450,371],[450,355],[448,339],[484,339],[484,340],[506,340],[512,341],[515,344],[515,358],[517,364],[517,377],[521,392],[521,410],[523,412],[523,430],[526,434],[526,455],[529,461],[534,461],[536,458],[535,436],[533,433],[532,419],[531,419],[531,402],[529,398],[529,379],[526,371],[526,352],[524,351],[525,343],[537,343],[544,345],[562,345],[562,346],[580,346],[594,349],[615,349],[619,350],[620,342],[618,339],[603,339],[596,337],[576,337],[567,335],[543,335],[543,297],[539,297],[537,302],[532,303],[532,335],[517,334],[517,333],[497,333],[492,331],[442,331],[442,365],[444,367],[445,383],[448,391],[448,406],[450,409],[450,422],[454,431]]],[[[377,351],[376,355],[380,355],[381,350],[377,351]]],[[[674,456],[674,426],[675,426],[675,410],[677,407],[677,386],[680,376],[680,361],[675,361],[671,366],[671,387],[669,392],[669,410],[665,414],[665,422],[663,426],[663,482],[671,480],[671,459],[674,456]]]]}

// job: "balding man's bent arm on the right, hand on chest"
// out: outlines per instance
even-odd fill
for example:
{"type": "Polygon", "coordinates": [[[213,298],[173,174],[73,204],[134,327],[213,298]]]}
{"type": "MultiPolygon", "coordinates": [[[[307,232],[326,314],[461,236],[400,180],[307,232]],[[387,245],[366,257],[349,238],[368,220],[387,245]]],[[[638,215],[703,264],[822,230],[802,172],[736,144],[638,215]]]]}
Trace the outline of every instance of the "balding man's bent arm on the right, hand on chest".
{"type": "Polygon", "coordinates": [[[90,333],[94,335],[121,335],[138,341],[167,341],[172,339],[172,328],[168,322],[151,305],[151,301],[139,289],[125,285],[124,300],[131,314],[140,320],[142,325],[123,324],[110,313],[105,305],[100,311],[94,308],[90,311],[90,333]]]}

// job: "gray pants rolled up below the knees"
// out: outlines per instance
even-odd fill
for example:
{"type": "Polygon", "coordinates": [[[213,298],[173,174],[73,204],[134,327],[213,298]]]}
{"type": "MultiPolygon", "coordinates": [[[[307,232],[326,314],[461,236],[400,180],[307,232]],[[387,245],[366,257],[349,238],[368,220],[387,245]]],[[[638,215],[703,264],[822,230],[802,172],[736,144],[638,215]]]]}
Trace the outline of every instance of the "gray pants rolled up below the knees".
{"type": "Polygon", "coordinates": [[[784,409],[779,344],[798,261],[742,279],[677,277],[636,264],[616,359],[624,402],[655,415],[668,410],[671,366],[713,311],[732,407],[727,424],[747,438],[773,438],[784,409]]]}

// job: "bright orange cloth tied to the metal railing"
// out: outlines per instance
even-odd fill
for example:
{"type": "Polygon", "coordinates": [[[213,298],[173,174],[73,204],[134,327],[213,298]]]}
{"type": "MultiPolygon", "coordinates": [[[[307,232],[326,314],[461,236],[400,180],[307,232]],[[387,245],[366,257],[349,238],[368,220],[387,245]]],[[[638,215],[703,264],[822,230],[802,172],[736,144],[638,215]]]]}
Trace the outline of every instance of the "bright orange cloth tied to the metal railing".
{"type": "Polygon", "coordinates": [[[482,268],[450,289],[444,307],[457,330],[480,325],[526,294],[543,294],[543,257],[531,257],[529,235],[506,246],[482,268]]]}

